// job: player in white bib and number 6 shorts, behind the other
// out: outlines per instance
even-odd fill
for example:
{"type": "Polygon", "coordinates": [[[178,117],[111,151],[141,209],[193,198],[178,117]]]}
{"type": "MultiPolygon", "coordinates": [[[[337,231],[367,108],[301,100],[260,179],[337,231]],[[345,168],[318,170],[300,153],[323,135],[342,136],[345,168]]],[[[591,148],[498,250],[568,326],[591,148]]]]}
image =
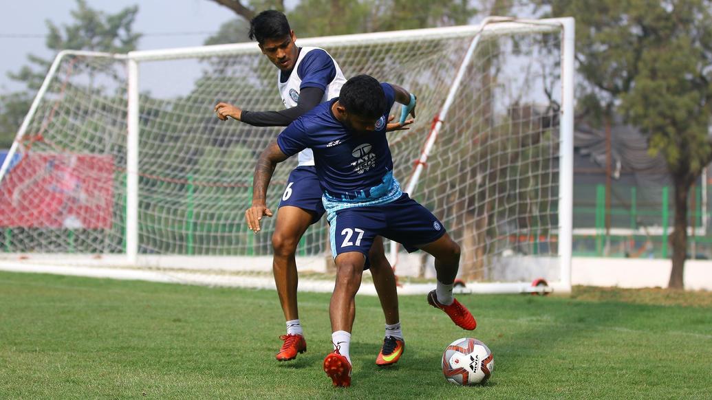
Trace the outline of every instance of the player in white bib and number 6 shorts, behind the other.
{"type": "MultiPolygon", "coordinates": [[[[295,34],[284,14],[269,10],[250,21],[251,39],[256,39],[262,53],[278,68],[277,87],[286,110],[246,111],[219,102],[215,112],[219,119],[234,118],[254,126],[287,126],[320,102],[335,98],[346,82],[339,65],[321,48],[295,45],[295,34]]],[[[412,120],[389,124],[389,130],[407,129],[412,120]]],[[[295,359],[306,351],[303,328],[297,307],[297,265],[295,252],[306,229],[324,214],[322,191],[316,177],[310,149],[299,153],[299,164],[290,174],[279,204],[272,245],[273,273],[279,301],[287,323],[287,335],[276,359],[295,359]]],[[[271,211],[269,213],[271,216],[271,211]]],[[[384,256],[382,238],[377,238],[370,253],[373,283],[385,314],[386,330],[376,364],[387,366],[398,362],[404,351],[404,340],[398,312],[395,276],[384,256]]]]}

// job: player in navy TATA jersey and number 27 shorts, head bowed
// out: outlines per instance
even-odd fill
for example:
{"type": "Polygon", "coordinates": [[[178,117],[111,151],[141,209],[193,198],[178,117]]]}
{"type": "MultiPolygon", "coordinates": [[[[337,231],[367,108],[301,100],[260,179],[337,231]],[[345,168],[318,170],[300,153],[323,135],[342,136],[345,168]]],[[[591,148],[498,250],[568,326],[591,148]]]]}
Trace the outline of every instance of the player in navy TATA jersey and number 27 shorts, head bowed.
{"type": "Polygon", "coordinates": [[[335,386],[351,384],[355,295],[377,236],[402,243],[408,251],[419,248],[434,256],[437,284],[427,296],[429,304],[446,312],[459,327],[476,327],[474,317],[452,294],[459,246],[430,211],[401,191],[393,177],[385,125],[396,101],[415,105],[415,97],[397,85],[380,84],[368,75],[351,78],[340,97],[323,102],[283,130],[255,167],[246,220],[257,232],[262,217],[271,214],[265,199],[276,165],[303,149],[313,150],[337,268],[329,307],[334,350],[323,364],[335,386]]]}

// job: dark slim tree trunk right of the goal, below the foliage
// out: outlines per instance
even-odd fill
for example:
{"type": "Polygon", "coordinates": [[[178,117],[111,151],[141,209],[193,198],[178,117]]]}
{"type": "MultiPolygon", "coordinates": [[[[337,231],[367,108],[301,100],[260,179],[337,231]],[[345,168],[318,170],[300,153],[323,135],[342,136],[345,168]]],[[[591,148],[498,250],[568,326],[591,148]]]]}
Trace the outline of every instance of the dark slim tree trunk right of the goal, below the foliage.
{"type": "Polygon", "coordinates": [[[669,289],[684,289],[685,260],[687,259],[687,197],[694,181],[691,174],[674,174],[675,223],[672,242],[672,270],[669,289]]]}

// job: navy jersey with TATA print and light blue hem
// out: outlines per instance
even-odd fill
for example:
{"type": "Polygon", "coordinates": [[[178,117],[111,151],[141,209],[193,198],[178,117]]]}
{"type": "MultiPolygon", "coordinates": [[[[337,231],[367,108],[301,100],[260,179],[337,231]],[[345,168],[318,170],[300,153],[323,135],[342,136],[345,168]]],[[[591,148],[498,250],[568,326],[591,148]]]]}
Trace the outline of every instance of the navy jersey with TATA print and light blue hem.
{"type": "Polygon", "coordinates": [[[372,201],[386,195],[394,186],[386,125],[395,92],[388,83],[382,83],[381,87],[387,107],[373,132],[355,133],[339,122],[331,112],[338,100],[335,98],[299,117],[277,137],[277,144],[288,156],[303,149],[313,150],[316,172],[327,199],[353,203],[372,201]]]}

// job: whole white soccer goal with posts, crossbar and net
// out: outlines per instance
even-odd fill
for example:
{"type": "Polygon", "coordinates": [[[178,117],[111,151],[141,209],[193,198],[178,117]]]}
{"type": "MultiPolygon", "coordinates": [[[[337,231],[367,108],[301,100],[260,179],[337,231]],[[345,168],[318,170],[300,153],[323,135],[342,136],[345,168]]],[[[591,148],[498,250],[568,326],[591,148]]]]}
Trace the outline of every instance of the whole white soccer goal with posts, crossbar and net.
{"type": "MultiPolygon", "coordinates": [[[[297,41],[325,48],[347,78],[418,96],[411,129],[388,134],[394,175],[460,244],[468,286],[570,286],[572,27],[490,21],[297,41]]],[[[255,235],[244,210],[256,158],[281,128],[219,121],[213,108],[281,109],[276,76],[256,43],[59,54],[0,169],[0,266],[269,286],[274,221],[255,235]]],[[[271,209],[295,164],[276,170],[271,209]]],[[[434,276],[428,257],[391,248],[397,275],[434,276]]],[[[325,219],[297,256],[300,271],[328,273],[325,219]]]]}

